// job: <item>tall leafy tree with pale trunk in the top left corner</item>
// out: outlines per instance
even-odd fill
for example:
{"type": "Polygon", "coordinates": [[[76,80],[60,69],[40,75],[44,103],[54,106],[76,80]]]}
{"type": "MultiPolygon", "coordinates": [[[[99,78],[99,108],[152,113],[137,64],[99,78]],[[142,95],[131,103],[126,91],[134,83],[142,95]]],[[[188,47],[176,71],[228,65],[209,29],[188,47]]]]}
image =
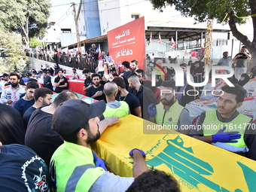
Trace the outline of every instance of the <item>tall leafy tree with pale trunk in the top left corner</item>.
{"type": "Polygon", "coordinates": [[[29,47],[29,38],[44,34],[49,10],[48,0],[1,0],[0,23],[8,31],[20,32],[29,47]]]}

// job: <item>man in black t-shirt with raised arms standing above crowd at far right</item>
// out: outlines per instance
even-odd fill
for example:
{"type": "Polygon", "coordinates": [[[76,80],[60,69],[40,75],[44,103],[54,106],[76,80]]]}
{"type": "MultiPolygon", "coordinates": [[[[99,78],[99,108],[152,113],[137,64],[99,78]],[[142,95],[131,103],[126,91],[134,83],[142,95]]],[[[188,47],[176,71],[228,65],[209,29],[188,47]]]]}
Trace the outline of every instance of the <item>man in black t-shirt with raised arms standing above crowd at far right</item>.
{"type": "Polygon", "coordinates": [[[242,46],[240,53],[233,58],[233,62],[236,62],[235,77],[237,79],[247,71],[247,59],[251,59],[251,56],[246,53],[246,47],[242,46]]]}

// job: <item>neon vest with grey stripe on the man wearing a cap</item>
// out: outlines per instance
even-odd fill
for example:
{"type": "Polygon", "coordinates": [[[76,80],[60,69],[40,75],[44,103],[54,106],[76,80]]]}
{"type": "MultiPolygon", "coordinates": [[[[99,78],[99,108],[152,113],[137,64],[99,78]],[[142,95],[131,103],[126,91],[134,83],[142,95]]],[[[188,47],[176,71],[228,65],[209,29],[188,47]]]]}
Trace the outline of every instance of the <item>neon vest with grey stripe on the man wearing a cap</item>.
{"type": "Polygon", "coordinates": [[[65,142],[50,160],[50,175],[57,192],[88,191],[105,172],[93,162],[90,148],[65,142]]]}

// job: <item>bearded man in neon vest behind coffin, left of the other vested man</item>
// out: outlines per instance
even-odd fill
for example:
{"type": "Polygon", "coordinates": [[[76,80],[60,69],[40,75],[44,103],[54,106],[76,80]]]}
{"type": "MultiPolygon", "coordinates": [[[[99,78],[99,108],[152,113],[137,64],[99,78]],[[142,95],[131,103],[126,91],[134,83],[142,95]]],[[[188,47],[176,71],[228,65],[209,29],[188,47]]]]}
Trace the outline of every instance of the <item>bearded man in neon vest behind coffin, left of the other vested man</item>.
{"type": "Polygon", "coordinates": [[[188,135],[190,133],[190,114],[175,99],[175,81],[163,81],[160,87],[161,102],[156,106],[148,106],[151,121],[169,129],[188,135]]]}

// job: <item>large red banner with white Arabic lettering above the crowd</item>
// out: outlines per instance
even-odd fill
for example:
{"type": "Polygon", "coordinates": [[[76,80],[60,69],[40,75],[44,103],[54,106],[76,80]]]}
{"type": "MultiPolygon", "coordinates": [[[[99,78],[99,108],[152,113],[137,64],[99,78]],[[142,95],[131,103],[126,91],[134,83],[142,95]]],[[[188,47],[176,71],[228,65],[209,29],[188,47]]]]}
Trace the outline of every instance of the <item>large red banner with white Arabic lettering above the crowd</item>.
{"type": "Polygon", "coordinates": [[[108,51],[117,65],[136,59],[139,69],[145,62],[145,18],[141,17],[108,32],[108,51]]]}

